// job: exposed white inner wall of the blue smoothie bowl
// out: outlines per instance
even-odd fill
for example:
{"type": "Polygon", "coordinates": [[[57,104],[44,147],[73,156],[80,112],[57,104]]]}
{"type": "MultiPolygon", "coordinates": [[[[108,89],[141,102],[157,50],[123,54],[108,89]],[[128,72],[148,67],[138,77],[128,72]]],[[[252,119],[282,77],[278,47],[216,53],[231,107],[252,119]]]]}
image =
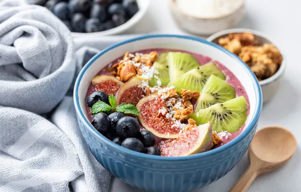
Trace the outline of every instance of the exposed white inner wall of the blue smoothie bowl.
{"type": "Polygon", "coordinates": [[[83,74],[78,87],[80,108],[82,109],[85,117],[87,118],[87,113],[85,110],[85,95],[91,79],[98,73],[99,70],[101,70],[116,58],[124,55],[125,52],[137,52],[139,50],[156,48],[178,49],[193,52],[196,54],[202,54],[222,63],[240,80],[248,95],[250,113],[246,125],[249,123],[250,119],[252,119],[251,117],[255,115],[256,102],[258,102],[256,101],[256,88],[254,86],[255,80],[252,77],[252,72],[250,72],[250,70],[248,70],[245,65],[242,65],[239,60],[225,54],[222,50],[219,50],[214,46],[192,39],[184,39],[178,37],[153,37],[139,39],[119,45],[114,49],[111,49],[108,52],[104,53],[90,65],[90,67],[83,74]]]}

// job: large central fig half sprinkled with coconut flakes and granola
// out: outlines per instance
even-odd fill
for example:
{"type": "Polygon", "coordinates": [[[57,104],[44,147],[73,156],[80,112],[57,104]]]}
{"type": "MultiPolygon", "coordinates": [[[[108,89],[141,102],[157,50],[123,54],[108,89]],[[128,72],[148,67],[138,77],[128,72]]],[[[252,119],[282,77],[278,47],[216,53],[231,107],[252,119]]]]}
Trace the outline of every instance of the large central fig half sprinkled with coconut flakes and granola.
{"type": "Polygon", "coordinates": [[[186,124],[175,118],[178,110],[181,114],[181,111],[187,109],[182,102],[175,89],[160,89],[139,101],[136,106],[139,111],[138,120],[145,129],[160,138],[177,138],[186,127],[186,124]]]}

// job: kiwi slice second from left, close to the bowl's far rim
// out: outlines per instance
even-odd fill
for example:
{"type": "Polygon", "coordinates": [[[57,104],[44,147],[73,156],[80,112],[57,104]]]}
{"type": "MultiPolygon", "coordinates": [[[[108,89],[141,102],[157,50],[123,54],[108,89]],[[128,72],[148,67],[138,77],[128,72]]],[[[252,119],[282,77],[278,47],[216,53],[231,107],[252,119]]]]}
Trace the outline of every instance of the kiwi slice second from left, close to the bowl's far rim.
{"type": "Polygon", "coordinates": [[[176,80],[187,71],[199,67],[197,60],[190,54],[169,52],[167,54],[170,81],[176,80]]]}

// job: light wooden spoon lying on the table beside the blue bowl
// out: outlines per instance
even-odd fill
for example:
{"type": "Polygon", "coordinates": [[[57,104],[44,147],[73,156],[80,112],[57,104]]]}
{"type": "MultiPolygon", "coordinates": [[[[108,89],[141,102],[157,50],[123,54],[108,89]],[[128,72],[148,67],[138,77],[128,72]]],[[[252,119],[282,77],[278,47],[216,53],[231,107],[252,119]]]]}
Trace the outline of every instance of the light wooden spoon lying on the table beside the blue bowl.
{"type": "Polygon", "coordinates": [[[230,192],[246,191],[257,176],[284,165],[296,149],[297,141],[289,130],[279,126],[260,129],[249,148],[250,165],[230,192]]]}

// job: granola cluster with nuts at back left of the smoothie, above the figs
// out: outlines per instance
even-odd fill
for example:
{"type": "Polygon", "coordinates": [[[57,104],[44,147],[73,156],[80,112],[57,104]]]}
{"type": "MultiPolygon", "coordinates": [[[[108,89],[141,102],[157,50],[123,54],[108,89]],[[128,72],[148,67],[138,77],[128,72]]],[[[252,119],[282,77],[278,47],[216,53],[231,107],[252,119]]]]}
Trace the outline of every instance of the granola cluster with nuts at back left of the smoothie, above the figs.
{"type": "Polygon", "coordinates": [[[118,80],[126,82],[136,75],[142,75],[142,67],[152,67],[156,57],[157,52],[150,52],[149,54],[136,53],[135,55],[126,52],[123,59],[115,63],[109,71],[118,80]]]}

